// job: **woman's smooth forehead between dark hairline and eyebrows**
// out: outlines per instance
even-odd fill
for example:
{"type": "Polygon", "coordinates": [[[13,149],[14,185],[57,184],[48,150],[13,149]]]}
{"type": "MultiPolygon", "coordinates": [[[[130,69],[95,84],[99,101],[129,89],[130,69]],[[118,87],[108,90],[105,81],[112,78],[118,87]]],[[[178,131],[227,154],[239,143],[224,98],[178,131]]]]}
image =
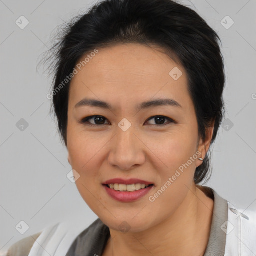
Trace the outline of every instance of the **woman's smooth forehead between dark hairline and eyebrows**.
{"type": "MultiPolygon", "coordinates": [[[[77,63],[88,55],[90,53],[84,54],[77,63]]],[[[163,49],[125,43],[99,48],[98,53],[92,55],[70,82],[71,105],[83,97],[101,99],[113,105],[115,102],[117,105],[137,103],[142,98],[153,97],[170,97],[189,104],[185,69],[163,53],[163,49]]]]}

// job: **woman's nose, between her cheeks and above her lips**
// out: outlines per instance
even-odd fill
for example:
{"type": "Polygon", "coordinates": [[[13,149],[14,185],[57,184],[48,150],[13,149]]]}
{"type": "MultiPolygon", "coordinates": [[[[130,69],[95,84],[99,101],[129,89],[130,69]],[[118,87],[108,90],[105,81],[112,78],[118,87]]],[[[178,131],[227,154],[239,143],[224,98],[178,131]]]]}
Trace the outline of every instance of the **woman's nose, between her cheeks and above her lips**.
{"type": "Polygon", "coordinates": [[[108,155],[109,164],[122,170],[130,170],[145,162],[145,145],[132,128],[126,131],[117,128],[108,155]]]}

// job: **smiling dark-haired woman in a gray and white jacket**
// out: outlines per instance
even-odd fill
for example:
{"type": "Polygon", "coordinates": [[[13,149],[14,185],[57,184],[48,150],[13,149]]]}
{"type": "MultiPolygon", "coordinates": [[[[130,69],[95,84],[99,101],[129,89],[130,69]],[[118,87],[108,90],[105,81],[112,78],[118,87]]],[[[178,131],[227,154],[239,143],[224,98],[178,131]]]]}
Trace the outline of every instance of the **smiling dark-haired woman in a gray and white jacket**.
{"type": "Polygon", "coordinates": [[[47,227],[8,255],[255,255],[254,213],[198,185],[224,113],[218,41],[171,0],[102,1],[63,30],[47,97],[99,218],[79,233],[47,227]]]}

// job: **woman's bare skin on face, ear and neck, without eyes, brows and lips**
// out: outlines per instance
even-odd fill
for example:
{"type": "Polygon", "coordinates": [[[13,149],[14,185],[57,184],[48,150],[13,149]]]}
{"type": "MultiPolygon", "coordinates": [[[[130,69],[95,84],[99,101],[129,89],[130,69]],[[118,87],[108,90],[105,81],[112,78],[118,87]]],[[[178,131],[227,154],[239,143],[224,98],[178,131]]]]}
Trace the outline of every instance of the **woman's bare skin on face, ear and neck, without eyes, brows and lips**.
{"type": "MultiPolygon", "coordinates": [[[[206,139],[198,137],[185,69],[159,47],[138,43],[117,44],[99,52],[72,78],[68,101],[68,162],[79,173],[76,185],[88,206],[109,227],[110,238],[103,255],[203,255],[210,233],[214,201],[196,186],[196,158],[154,202],[154,195],[189,157],[205,157],[213,126],[206,139]],[[178,80],[169,72],[182,71],[178,80]],[[95,106],[75,108],[83,98],[103,100],[113,109],[95,106]],[[182,107],[154,106],[137,111],[135,106],[156,98],[171,98],[182,107]],[[103,116],[103,125],[91,118],[103,116]],[[155,115],[169,117],[157,124],[155,115]],[[123,131],[118,123],[131,126],[123,131]],[[89,126],[88,124],[94,124],[89,126]],[[144,197],[133,202],[111,198],[102,185],[120,177],[154,183],[144,197]],[[119,225],[126,221],[128,232],[119,225]],[[167,253],[166,253],[167,252],[167,253]]],[[[87,54],[86,54],[87,55],[87,54]]],[[[81,58],[84,59],[85,56],[81,58]]]]}

